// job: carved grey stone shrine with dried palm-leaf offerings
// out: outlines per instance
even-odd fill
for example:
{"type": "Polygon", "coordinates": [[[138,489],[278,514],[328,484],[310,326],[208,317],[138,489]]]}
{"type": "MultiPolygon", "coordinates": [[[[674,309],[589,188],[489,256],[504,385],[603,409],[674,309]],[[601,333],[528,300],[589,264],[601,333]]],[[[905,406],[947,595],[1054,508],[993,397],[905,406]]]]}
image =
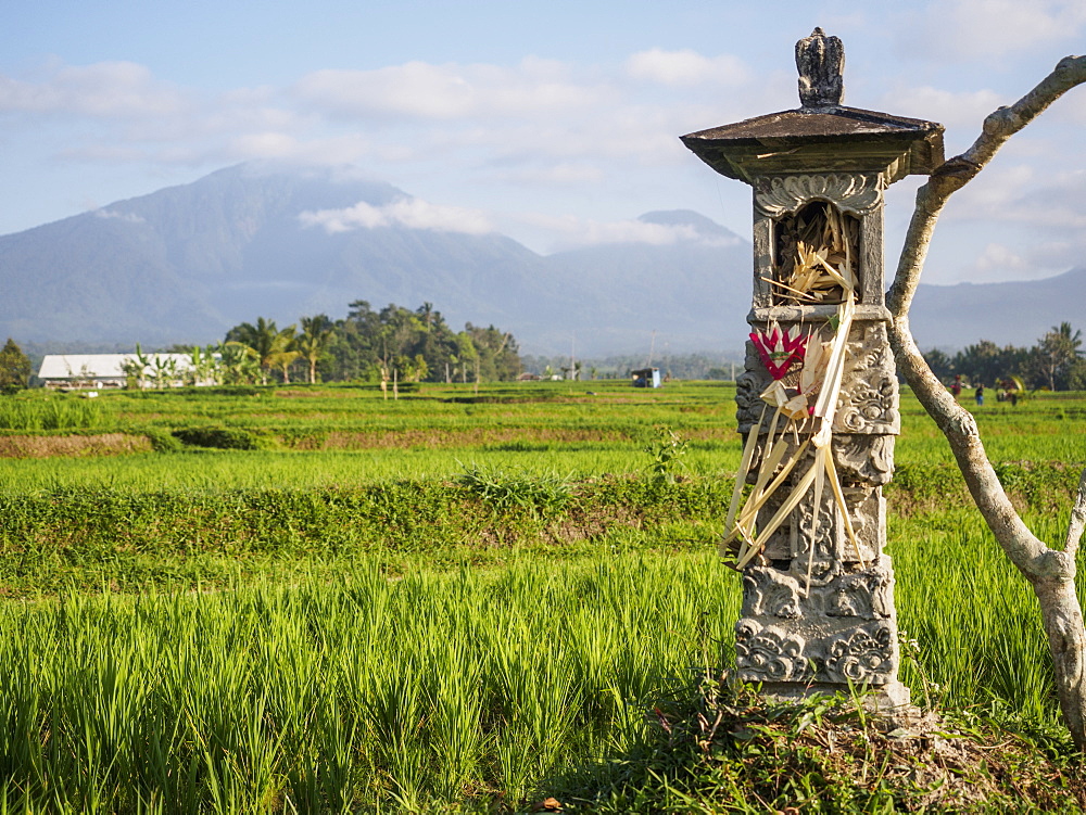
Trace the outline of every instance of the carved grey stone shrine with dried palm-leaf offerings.
{"type": "Polygon", "coordinates": [[[854,684],[902,705],[883,551],[900,431],[883,193],[942,164],[943,127],[842,105],[844,50],[821,28],[796,63],[799,109],[682,137],[754,190],[744,459],[721,546],[743,573],[736,668],[779,696],[854,684]]]}

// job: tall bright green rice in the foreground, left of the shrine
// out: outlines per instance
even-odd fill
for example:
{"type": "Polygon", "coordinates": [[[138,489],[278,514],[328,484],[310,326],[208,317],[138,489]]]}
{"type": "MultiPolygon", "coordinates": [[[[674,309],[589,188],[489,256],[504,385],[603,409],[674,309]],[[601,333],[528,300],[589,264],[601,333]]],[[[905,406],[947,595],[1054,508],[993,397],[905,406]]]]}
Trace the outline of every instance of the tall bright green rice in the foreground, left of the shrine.
{"type": "Polygon", "coordinates": [[[712,557],[0,606],[3,798],[487,811],[632,749],[737,610],[712,557]]]}

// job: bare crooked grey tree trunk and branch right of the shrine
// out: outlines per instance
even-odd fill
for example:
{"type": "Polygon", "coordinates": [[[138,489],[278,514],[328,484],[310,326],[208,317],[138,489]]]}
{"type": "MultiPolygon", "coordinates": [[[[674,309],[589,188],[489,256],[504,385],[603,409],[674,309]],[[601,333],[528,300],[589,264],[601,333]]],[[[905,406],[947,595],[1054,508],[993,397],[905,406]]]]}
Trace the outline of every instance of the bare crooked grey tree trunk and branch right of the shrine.
{"type": "Polygon", "coordinates": [[[1075,555],[1086,526],[1086,473],[1064,547],[1053,549],[1019,518],[985,455],[973,416],[954,399],[924,361],[909,328],[909,308],[935,225],[950,195],[975,178],[1011,136],[1084,81],[1086,56],[1064,58],[1022,99],[989,114],[969,150],[932,173],[917,192],[915,209],[886,303],[893,315],[891,345],[898,369],[949,442],[970,495],[997,543],[1033,586],[1052,652],[1060,708],[1079,751],[1086,751],[1086,628],[1074,576],[1075,555]]]}

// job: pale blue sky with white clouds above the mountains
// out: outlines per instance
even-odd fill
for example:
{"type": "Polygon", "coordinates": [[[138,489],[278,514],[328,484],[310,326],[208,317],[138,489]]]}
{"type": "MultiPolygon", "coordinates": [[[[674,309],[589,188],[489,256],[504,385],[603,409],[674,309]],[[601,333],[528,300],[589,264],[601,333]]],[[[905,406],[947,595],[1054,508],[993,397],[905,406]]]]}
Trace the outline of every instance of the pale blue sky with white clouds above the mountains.
{"type": "MultiPolygon", "coordinates": [[[[418,222],[539,252],[673,238],[636,222],[654,209],[747,237],[748,189],[678,136],[797,106],[816,25],[845,42],[847,104],[942,122],[951,155],[1083,50],[1086,3],[16,0],[0,234],[279,160],[351,165],[418,222]]],[[[926,281],[1082,265],[1084,126],[1079,88],[1005,148],[948,207],[926,281]]],[[[891,265],[918,184],[888,195],[891,265]]]]}

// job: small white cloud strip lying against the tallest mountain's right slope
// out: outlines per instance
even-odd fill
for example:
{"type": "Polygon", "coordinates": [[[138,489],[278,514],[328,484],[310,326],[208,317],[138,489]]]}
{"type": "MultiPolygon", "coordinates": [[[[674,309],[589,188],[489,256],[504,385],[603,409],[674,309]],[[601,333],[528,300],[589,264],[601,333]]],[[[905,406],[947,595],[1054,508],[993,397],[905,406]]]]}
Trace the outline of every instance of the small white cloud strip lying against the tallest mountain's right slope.
{"type": "Polygon", "coordinates": [[[383,206],[372,206],[359,201],[343,209],[304,212],[299,215],[299,220],[306,227],[323,227],[329,234],[396,226],[467,234],[485,234],[494,230],[490,219],[478,209],[443,206],[407,198],[383,206]]]}

